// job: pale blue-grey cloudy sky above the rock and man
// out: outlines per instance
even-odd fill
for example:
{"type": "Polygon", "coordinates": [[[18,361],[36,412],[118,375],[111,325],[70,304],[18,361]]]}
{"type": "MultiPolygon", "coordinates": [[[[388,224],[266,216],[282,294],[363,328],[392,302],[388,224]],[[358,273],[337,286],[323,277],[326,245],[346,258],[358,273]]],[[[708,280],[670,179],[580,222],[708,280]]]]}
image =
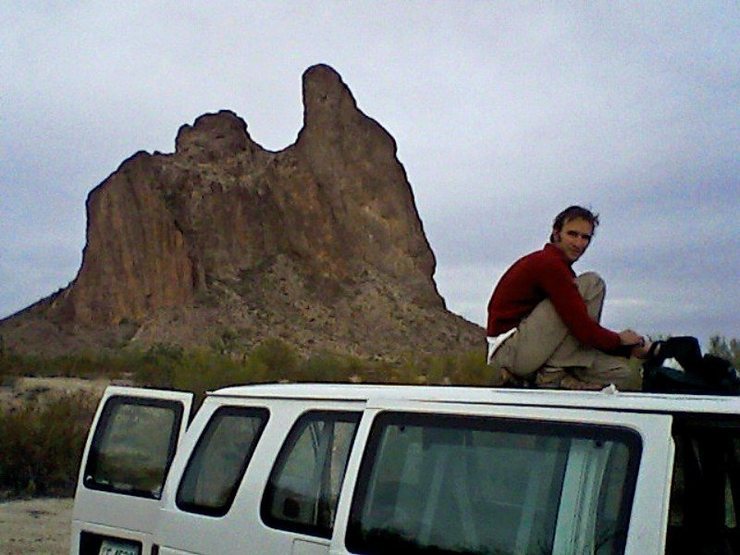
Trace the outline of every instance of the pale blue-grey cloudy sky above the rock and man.
{"type": "Polygon", "coordinates": [[[607,326],[740,337],[739,36],[731,0],[0,0],[0,318],[75,277],[124,159],[224,108],[282,149],[321,62],[395,137],[454,312],[576,203],[607,326]]]}

